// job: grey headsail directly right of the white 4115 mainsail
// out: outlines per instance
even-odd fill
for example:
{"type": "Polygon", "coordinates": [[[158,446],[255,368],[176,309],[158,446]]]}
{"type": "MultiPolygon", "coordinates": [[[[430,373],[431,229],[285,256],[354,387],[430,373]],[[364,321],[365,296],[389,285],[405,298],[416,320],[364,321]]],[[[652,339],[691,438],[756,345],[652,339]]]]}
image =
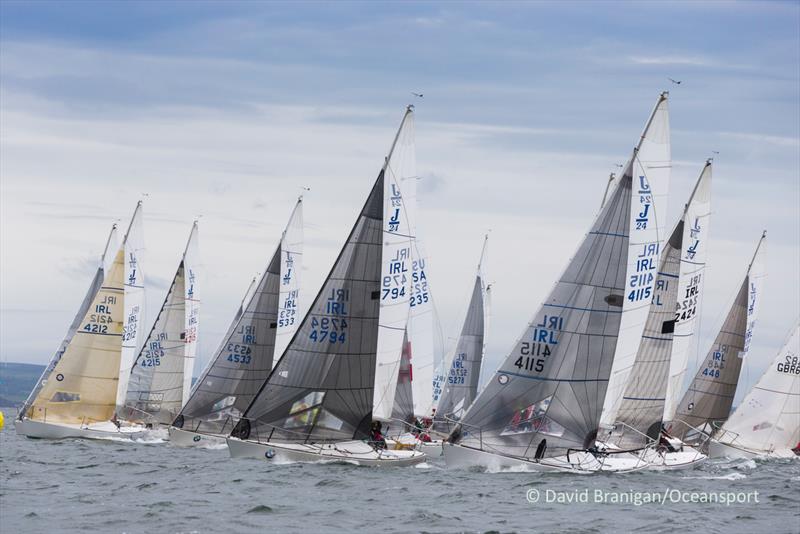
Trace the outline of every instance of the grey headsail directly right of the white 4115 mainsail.
{"type": "Polygon", "coordinates": [[[681,219],[661,252],[650,312],[617,412],[611,441],[623,448],[645,446],[657,440],[661,431],[675,331],[683,224],[681,219]]]}

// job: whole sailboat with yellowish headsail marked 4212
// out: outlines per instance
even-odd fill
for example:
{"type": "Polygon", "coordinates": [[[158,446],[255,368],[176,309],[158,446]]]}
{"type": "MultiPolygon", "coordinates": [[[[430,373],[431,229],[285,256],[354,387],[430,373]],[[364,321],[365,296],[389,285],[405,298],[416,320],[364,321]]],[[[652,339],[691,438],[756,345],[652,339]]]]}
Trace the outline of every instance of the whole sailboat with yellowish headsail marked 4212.
{"type": "Polygon", "coordinates": [[[14,422],[32,438],[135,437],[119,424],[127,391],[127,347],[138,346],[143,314],[141,201],[121,246],[112,228],[91,286],[58,351],[14,422]],[[124,376],[124,380],[121,377],[124,376]]]}

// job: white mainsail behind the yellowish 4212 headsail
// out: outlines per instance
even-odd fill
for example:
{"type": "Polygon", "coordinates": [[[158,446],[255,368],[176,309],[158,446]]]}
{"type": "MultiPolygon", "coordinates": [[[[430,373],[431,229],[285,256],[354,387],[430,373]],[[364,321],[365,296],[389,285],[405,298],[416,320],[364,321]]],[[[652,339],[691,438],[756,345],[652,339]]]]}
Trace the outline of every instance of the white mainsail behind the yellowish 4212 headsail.
{"type": "MultiPolygon", "coordinates": [[[[144,271],[142,255],[144,236],[142,234],[142,201],[136,205],[133,219],[125,233],[125,315],[122,327],[122,355],[119,362],[119,382],[117,384],[117,410],[122,412],[128,394],[128,379],[133,362],[142,344],[142,330],[145,319],[144,271]]],[[[122,415],[122,413],[120,413],[122,415]]]]}

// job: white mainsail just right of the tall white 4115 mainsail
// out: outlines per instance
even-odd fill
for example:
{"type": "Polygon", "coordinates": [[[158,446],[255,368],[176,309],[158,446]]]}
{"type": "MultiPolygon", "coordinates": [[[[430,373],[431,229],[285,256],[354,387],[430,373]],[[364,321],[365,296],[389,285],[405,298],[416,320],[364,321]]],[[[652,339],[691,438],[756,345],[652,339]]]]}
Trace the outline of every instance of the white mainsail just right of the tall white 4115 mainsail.
{"type": "Polygon", "coordinates": [[[692,347],[697,346],[695,336],[700,323],[711,220],[711,160],[700,174],[683,219],[686,221],[683,226],[684,250],[678,279],[678,303],[664,400],[664,421],[672,421],[675,416],[689,363],[689,352],[692,347]]]}

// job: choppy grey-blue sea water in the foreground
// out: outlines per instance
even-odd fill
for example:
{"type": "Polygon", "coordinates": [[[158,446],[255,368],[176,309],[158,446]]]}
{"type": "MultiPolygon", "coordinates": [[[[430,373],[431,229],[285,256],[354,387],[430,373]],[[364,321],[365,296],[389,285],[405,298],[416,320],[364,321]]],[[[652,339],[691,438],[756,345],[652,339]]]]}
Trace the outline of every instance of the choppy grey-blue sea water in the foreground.
{"type": "MultiPolygon", "coordinates": [[[[11,421],[8,421],[9,423],[11,421]]],[[[710,461],[689,471],[589,476],[271,465],[168,443],[0,433],[0,531],[800,532],[800,460],[710,461]],[[529,490],[539,492],[530,503],[529,490]],[[673,491],[758,492],[723,504],[595,502],[673,491]],[[549,491],[549,493],[548,493],[549,491]],[[554,495],[588,503],[545,502],[554,495]],[[640,494],[641,495],[641,494],[640,494]],[[603,500],[604,497],[600,497],[603,500]]]]}

